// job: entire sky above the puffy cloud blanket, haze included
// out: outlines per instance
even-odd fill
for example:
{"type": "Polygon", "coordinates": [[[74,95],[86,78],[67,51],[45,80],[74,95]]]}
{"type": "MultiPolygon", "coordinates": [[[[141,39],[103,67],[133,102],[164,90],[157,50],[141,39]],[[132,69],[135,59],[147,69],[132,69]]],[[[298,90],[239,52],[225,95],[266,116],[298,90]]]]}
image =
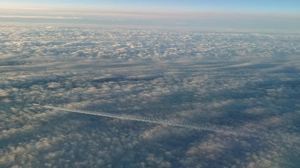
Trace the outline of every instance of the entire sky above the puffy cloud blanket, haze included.
{"type": "Polygon", "coordinates": [[[298,1],[10,1],[0,21],[298,33],[298,1]],[[55,18],[56,17],[56,18],[55,18]],[[60,19],[60,20],[55,20],[60,19]],[[64,19],[61,20],[61,19],[64,19]]]}

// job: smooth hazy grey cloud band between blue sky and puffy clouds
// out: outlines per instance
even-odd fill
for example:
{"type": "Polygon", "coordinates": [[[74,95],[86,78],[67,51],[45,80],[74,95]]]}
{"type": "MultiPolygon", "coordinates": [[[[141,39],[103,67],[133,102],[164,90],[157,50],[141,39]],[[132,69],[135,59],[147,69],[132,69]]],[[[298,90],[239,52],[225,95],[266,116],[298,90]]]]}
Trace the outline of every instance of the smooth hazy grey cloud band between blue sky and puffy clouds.
{"type": "MultiPolygon", "coordinates": [[[[0,21],[9,22],[53,22],[73,23],[77,26],[86,24],[123,25],[135,28],[168,28],[176,30],[209,31],[209,32],[268,32],[299,33],[297,14],[265,14],[265,13],[230,13],[174,11],[149,9],[120,8],[61,8],[61,7],[0,7],[0,21]],[[44,16],[47,13],[47,16],[44,16]],[[11,16],[5,16],[10,14],[11,16]],[[21,18],[21,19],[18,19],[21,18]]],[[[98,26],[98,27],[99,27],[98,26]]]]}

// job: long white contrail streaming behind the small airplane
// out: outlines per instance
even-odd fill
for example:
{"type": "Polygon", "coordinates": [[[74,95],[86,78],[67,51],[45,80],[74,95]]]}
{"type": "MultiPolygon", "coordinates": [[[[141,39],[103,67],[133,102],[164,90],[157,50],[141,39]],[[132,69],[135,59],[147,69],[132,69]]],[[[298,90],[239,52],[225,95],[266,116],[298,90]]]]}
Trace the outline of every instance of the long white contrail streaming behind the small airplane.
{"type": "MultiPolygon", "coordinates": [[[[38,105],[38,104],[34,104],[34,105],[38,105]]],[[[49,109],[76,112],[76,113],[82,113],[82,114],[98,115],[98,116],[118,118],[118,119],[124,119],[124,120],[141,121],[141,122],[156,123],[156,124],[162,124],[162,125],[171,125],[174,127],[211,131],[211,132],[229,134],[229,135],[233,135],[233,136],[258,137],[257,135],[252,135],[252,134],[244,133],[244,132],[240,132],[240,131],[239,132],[230,131],[230,129],[228,129],[229,127],[226,127],[226,126],[222,126],[222,128],[220,128],[220,127],[217,127],[216,125],[209,125],[209,127],[207,127],[202,124],[185,124],[185,123],[183,124],[183,123],[174,123],[174,122],[167,121],[167,120],[158,120],[158,119],[145,118],[145,117],[142,118],[142,117],[128,116],[128,115],[125,116],[125,115],[118,115],[118,114],[106,113],[106,112],[70,110],[70,109],[52,107],[52,106],[47,106],[47,105],[39,105],[39,106],[44,107],[44,108],[49,108],[49,109]]]]}

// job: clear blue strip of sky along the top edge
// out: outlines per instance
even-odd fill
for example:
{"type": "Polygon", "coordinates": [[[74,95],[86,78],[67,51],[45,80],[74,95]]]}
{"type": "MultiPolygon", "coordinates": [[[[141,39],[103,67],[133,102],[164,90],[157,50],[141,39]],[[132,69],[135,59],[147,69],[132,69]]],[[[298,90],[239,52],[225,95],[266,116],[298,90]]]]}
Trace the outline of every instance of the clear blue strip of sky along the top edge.
{"type": "MultiPolygon", "coordinates": [[[[0,1],[0,4],[3,3],[0,1]]],[[[194,11],[223,11],[223,12],[266,12],[266,13],[300,13],[300,1],[298,0],[252,0],[252,1],[238,1],[238,0],[152,0],[152,1],[138,1],[138,0],[52,0],[52,1],[38,1],[38,0],[24,0],[24,1],[6,1],[5,4],[19,5],[19,6],[93,6],[93,7],[116,7],[116,8],[150,8],[150,9],[176,9],[176,10],[194,10],[194,11]]]]}

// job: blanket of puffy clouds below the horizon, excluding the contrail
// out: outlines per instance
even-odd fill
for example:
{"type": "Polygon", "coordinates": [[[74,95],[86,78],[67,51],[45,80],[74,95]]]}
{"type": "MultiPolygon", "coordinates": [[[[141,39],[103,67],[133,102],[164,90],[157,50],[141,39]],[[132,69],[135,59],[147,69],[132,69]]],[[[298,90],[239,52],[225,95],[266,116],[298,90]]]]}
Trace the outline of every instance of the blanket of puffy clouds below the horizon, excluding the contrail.
{"type": "Polygon", "coordinates": [[[0,167],[297,167],[297,35],[2,27],[0,167]],[[259,137],[77,114],[198,123],[259,137]]]}

